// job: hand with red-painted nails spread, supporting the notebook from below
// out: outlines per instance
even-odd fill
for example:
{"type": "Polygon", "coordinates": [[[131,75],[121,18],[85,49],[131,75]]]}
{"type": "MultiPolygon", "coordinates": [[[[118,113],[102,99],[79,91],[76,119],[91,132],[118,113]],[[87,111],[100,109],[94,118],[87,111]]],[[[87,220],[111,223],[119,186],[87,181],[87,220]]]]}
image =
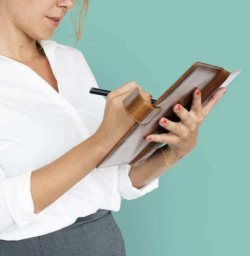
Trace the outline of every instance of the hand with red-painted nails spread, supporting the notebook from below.
{"type": "Polygon", "coordinates": [[[172,122],[166,118],[161,118],[159,125],[170,132],[167,134],[151,134],[145,140],[167,143],[168,150],[174,152],[177,157],[184,157],[195,147],[201,123],[226,91],[225,87],[221,87],[201,106],[201,92],[196,89],[193,92],[193,101],[189,112],[179,104],[172,108],[181,121],[172,122]]]}

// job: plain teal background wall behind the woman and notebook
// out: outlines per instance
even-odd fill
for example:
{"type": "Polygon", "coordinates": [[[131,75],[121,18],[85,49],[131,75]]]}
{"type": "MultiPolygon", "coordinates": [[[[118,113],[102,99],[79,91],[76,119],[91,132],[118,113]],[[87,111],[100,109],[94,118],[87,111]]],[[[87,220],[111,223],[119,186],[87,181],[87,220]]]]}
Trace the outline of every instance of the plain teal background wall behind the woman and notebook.
{"type": "Polygon", "coordinates": [[[243,68],[202,123],[185,165],[113,212],[127,256],[250,255],[249,7],[243,0],[90,0],[76,46],[66,38],[74,34],[70,12],[51,38],[83,52],[100,88],[134,80],[153,99],[195,61],[243,68]]]}

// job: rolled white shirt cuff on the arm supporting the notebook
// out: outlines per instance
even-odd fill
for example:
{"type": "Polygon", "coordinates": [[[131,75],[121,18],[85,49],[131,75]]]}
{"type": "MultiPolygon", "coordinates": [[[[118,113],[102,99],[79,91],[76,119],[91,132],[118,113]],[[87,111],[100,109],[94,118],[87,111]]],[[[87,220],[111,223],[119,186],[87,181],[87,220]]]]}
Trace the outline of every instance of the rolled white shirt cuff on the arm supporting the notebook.
{"type": "Polygon", "coordinates": [[[151,192],[153,189],[158,188],[159,178],[152,180],[148,184],[137,189],[132,186],[132,182],[129,178],[129,171],[132,166],[129,164],[119,165],[118,169],[118,190],[122,199],[132,200],[138,197],[141,197],[148,192],[151,192]]]}

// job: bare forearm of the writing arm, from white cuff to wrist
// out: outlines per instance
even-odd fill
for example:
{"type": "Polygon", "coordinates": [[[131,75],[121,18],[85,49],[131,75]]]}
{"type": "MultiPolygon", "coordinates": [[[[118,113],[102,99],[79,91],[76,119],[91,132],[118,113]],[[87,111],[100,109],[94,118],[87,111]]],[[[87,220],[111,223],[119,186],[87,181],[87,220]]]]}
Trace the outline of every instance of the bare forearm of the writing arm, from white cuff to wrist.
{"type": "Polygon", "coordinates": [[[106,155],[107,145],[89,137],[57,160],[32,172],[34,213],[39,213],[88,175],[106,155]]]}

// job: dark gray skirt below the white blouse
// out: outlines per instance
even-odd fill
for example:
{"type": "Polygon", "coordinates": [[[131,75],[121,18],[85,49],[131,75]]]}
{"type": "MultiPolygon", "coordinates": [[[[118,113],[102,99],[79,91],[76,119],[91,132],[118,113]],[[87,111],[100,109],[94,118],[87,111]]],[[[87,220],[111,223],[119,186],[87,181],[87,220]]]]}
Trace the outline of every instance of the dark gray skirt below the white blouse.
{"type": "Polygon", "coordinates": [[[125,256],[124,239],[109,210],[99,209],[55,232],[0,240],[0,256],[125,256]]]}

